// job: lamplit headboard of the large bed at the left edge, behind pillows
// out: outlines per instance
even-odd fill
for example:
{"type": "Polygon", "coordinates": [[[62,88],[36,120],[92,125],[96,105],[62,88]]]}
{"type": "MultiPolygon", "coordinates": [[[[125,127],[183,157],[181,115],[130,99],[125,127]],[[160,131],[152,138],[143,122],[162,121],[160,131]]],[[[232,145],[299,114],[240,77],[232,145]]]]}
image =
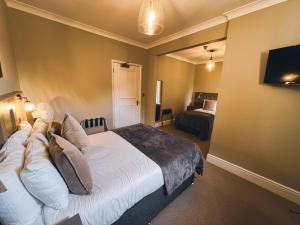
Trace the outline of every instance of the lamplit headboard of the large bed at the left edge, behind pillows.
{"type": "Polygon", "coordinates": [[[0,95],[0,147],[17,130],[17,95],[20,91],[0,95]]]}

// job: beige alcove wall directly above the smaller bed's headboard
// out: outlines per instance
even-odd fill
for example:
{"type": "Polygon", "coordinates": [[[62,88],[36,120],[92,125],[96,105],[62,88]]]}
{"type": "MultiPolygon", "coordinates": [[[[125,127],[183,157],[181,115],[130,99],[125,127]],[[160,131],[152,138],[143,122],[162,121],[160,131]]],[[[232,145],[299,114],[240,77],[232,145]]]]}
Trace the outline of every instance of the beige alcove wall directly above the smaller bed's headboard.
{"type": "Polygon", "coordinates": [[[222,73],[222,62],[217,62],[216,67],[213,71],[208,71],[205,64],[197,65],[195,72],[195,92],[208,92],[218,93],[221,73],[222,73]]]}

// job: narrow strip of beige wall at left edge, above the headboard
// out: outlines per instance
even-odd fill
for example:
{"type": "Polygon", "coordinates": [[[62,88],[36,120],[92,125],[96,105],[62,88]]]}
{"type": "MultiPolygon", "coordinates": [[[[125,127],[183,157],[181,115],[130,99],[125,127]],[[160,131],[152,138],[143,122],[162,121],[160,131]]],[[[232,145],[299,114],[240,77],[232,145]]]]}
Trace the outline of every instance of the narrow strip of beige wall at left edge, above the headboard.
{"type": "Polygon", "coordinates": [[[0,78],[0,95],[20,90],[8,26],[7,7],[3,0],[0,0],[0,62],[3,72],[3,78],[0,78]]]}

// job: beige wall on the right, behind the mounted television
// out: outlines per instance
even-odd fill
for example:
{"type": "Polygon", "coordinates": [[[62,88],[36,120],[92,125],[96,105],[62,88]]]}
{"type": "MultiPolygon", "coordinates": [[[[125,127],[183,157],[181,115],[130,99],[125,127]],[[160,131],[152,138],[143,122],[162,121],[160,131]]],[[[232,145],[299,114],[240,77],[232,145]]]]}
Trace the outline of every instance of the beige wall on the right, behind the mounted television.
{"type": "Polygon", "coordinates": [[[230,22],[210,153],[300,190],[300,89],[261,83],[269,49],[300,44],[300,1],[230,22]]]}

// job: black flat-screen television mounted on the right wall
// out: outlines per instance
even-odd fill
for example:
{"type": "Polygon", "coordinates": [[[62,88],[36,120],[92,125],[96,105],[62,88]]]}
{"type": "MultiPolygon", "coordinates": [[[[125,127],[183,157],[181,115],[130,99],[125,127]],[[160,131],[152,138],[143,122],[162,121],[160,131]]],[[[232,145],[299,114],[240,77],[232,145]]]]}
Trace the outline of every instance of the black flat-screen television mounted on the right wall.
{"type": "Polygon", "coordinates": [[[264,82],[300,85],[300,45],[270,50],[264,82]]]}

